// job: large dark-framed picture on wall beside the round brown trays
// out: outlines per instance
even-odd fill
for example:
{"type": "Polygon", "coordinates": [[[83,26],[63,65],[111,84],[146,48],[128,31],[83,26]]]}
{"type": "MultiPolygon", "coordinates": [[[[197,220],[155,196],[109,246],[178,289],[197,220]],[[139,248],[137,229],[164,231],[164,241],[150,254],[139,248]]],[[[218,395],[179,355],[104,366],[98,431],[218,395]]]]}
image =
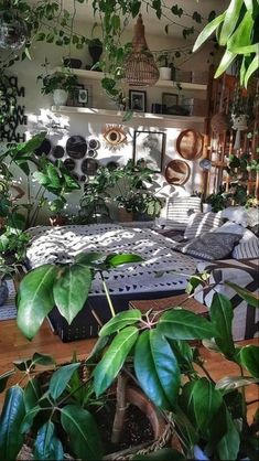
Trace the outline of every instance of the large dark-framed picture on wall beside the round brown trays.
{"type": "Polygon", "coordinates": [[[161,172],[165,147],[165,135],[161,131],[134,131],[133,163],[143,161],[144,164],[161,172]]]}

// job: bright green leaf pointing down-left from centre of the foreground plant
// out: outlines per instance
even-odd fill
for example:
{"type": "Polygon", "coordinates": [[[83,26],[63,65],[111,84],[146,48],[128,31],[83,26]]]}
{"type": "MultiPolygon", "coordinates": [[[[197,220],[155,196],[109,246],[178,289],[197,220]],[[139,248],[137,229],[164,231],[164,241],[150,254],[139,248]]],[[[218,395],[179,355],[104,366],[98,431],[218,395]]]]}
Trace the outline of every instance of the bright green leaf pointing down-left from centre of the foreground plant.
{"type": "Polygon", "coordinates": [[[139,331],[136,326],[127,326],[117,334],[94,371],[94,388],[97,397],[114,382],[134,345],[139,331]]]}

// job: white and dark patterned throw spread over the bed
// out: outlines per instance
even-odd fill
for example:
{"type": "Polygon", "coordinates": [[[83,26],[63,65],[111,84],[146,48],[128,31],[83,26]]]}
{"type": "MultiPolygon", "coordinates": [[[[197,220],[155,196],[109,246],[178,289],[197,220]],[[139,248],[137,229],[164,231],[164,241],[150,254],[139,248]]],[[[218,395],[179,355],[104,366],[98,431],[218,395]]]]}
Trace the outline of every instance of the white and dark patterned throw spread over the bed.
{"type": "MultiPolygon", "coordinates": [[[[78,253],[131,253],[144,262],[126,265],[104,272],[111,294],[128,292],[184,290],[195,272],[197,259],[173,250],[171,239],[154,230],[123,228],[112,224],[64,227],[35,227],[29,230],[32,239],[28,258],[32,268],[47,262],[73,260],[78,253]]],[[[90,294],[102,294],[96,275],[90,294]]]]}

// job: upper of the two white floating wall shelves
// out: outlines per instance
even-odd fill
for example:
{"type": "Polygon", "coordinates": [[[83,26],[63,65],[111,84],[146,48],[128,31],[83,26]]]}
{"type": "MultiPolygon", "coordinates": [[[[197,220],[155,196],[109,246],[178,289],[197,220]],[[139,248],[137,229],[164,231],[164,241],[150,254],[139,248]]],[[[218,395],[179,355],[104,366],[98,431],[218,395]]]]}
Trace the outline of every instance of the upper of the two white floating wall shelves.
{"type": "MultiPolygon", "coordinates": [[[[53,69],[53,73],[60,72],[63,73],[64,69],[62,67],[55,67],[53,69]]],[[[97,71],[86,71],[84,68],[72,68],[71,72],[76,75],[78,78],[86,78],[86,79],[93,79],[93,81],[101,81],[104,78],[102,72],[97,71]]],[[[157,84],[154,85],[160,88],[171,88],[175,89],[181,86],[182,89],[188,89],[194,92],[206,92],[207,85],[202,85],[197,83],[188,83],[188,82],[172,82],[172,81],[162,81],[159,79],[157,84]]]]}

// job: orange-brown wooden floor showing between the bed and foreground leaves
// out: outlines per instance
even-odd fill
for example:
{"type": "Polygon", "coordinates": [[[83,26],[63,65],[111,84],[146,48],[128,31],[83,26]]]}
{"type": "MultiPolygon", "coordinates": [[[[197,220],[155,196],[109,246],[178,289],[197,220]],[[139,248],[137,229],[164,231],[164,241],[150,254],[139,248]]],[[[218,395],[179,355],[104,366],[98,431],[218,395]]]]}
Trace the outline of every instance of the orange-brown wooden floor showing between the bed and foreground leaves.
{"type": "MultiPolygon", "coordinates": [[[[34,352],[53,355],[57,363],[69,362],[73,353],[76,352],[78,358],[85,358],[91,351],[96,340],[75,341],[63,343],[61,339],[53,334],[47,322],[43,324],[39,334],[29,342],[18,330],[15,320],[0,322],[0,375],[11,369],[12,362],[21,358],[30,358],[34,352]]],[[[258,344],[257,340],[244,341],[240,344],[258,344]]],[[[212,353],[201,347],[201,353],[206,361],[206,368],[215,380],[223,376],[239,376],[237,365],[226,361],[220,354],[212,353]]],[[[11,383],[11,380],[10,380],[11,383]]],[[[247,401],[258,398],[256,385],[247,387],[247,401]]],[[[2,406],[3,394],[0,394],[0,408],[2,406]]],[[[249,420],[257,405],[249,406],[249,420]]]]}

